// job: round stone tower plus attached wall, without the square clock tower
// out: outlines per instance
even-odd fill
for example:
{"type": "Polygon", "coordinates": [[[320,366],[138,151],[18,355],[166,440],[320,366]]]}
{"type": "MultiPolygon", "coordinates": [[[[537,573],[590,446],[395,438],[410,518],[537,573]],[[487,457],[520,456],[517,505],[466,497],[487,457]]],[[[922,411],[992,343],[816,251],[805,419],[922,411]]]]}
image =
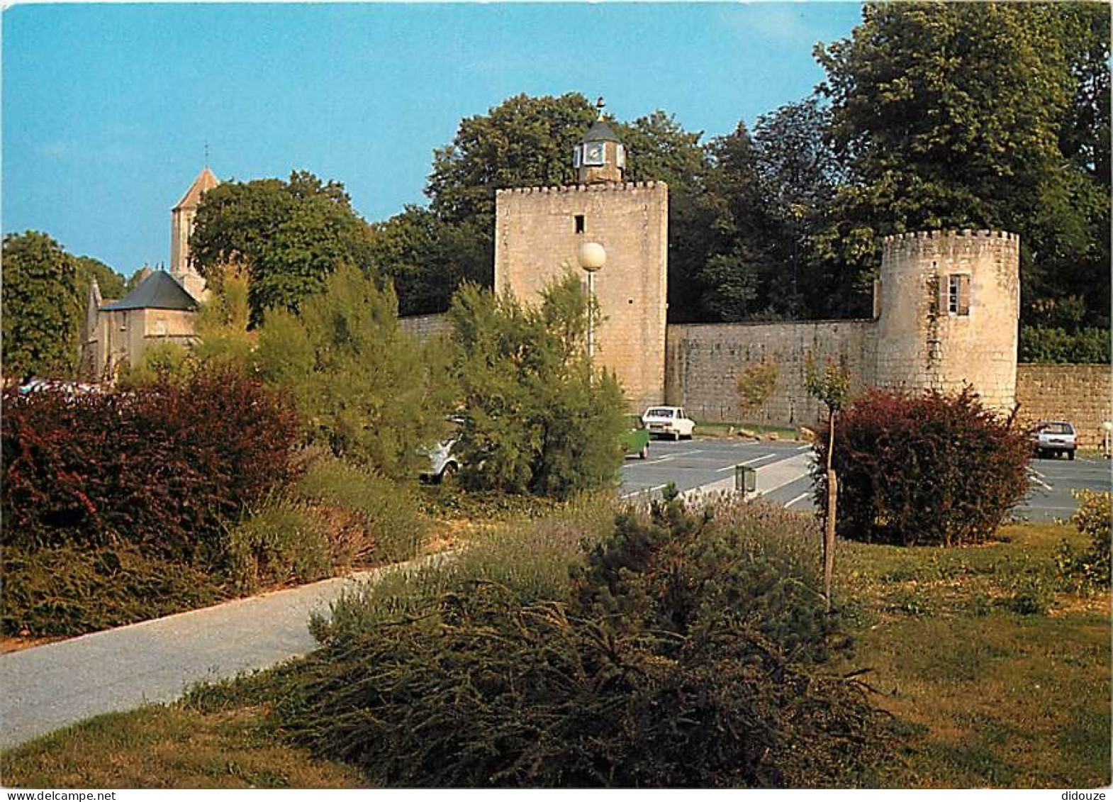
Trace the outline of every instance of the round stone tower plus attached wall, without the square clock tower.
{"type": "Polygon", "coordinates": [[[807,359],[834,360],[865,385],[957,392],[971,385],[989,407],[1016,401],[1020,237],[991,231],[887,237],[874,317],[792,323],[670,325],[666,398],[697,420],[812,423],[807,359]],[[777,365],[758,410],[739,408],[738,376],[777,365]]]}

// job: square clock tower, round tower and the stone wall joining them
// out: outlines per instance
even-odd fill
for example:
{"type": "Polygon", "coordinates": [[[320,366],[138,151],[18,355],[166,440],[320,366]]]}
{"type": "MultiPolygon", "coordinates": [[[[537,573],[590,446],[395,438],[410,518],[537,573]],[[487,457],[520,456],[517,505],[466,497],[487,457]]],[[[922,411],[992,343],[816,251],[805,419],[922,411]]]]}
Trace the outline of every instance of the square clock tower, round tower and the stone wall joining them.
{"type": "MultiPolygon", "coordinates": [[[[845,365],[856,387],[957,391],[1008,410],[1016,398],[1020,238],[989,231],[888,237],[874,317],[775,324],[667,325],[668,187],[623,180],[626,150],[598,120],[572,155],[578,183],[495,195],[495,288],[536,301],[585,242],[605,248],[594,276],[602,314],[597,361],[613,370],[631,408],[668,402],[701,420],[757,415],[814,422],[804,389],[809,358],[845,365]],[[778,365],[765,407],[743,413],[738,375],[778,365]]],[[[580,275],[583,275],[582,272],[580,275]]],[[[427,322],[425,323],[427,325],[427,322]]]]}

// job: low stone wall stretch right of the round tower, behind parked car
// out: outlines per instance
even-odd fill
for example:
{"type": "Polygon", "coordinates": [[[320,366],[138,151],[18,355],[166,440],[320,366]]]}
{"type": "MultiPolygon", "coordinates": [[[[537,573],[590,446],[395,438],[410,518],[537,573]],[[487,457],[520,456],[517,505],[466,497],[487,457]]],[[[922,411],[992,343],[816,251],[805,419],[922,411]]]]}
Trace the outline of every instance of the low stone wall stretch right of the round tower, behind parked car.
{"type": "Polygon", "coordinates": [[[1020,364],[1016,401],[1025,421],[1070,421],[1080,448],[1099,448],[1102,423],[1113,421],[1113,374],[1103,364],[1020,364]]]}

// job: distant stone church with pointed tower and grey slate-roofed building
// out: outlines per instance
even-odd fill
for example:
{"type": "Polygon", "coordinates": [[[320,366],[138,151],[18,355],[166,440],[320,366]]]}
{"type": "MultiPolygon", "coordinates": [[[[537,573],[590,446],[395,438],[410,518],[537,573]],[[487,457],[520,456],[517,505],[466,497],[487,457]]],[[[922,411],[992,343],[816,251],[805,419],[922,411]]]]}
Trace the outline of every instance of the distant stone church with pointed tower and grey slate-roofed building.
{"type": "Polygon", "coordinates": [[[112,382],[124,364],[137,364],[155,343],[195,341],[194,319],[205,299],[205,280],[189,264],[189,235],[201,195],[219,182],[206,167],[170,211],[170,272],[145,268],[119,301],[100,296],[93,280],[81,324],[79,375],[112,382]]]}

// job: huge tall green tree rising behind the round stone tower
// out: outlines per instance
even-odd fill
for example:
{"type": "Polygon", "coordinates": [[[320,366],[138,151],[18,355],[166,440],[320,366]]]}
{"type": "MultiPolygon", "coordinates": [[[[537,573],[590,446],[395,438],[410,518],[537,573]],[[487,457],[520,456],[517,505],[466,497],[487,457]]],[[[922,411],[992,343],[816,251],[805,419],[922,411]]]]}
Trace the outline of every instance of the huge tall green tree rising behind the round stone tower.
{"type": "Polygon", "coordinates": [[[867,313],[879,237],[923,228],[1017,232],[1025,309],[1081,290],[1107,310],[1109,193],[1078,164],[1097,170],[1084,109],[1100,119],[1109,9],[1075,6],[868,3],[851,38],[817,46],[850,169],[816,237],[830,313],[867,313]]]}

